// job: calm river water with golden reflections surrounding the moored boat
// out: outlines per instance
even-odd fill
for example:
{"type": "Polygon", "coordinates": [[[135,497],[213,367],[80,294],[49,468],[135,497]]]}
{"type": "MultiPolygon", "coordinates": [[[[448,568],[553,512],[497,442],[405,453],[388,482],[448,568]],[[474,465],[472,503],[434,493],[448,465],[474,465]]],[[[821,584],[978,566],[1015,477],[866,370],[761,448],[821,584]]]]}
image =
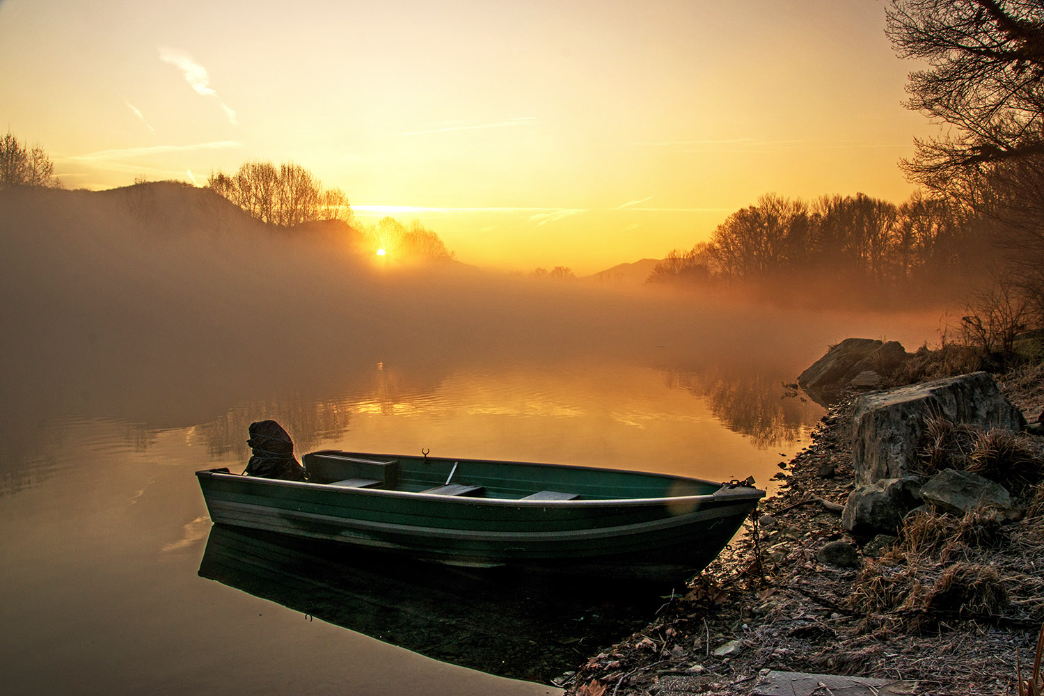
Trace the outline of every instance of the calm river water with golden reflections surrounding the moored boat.
{"type": "Polygon", "coordinates": [[[783,387],[801,367],[573,358],[407,373],[371,363],[322,394],[255,388],[185,412],[171,397],[162,417],[78,387],[8,410],[0,692],[551,693],[552,676],[642,625],[662,599],[594,589],[573,598],[243,538],[212,527],[193,472],[241,471],[247,425],[272,417],[299,455],[424,448],[753,475],[770,487],[823,414],[783,387]]]}

